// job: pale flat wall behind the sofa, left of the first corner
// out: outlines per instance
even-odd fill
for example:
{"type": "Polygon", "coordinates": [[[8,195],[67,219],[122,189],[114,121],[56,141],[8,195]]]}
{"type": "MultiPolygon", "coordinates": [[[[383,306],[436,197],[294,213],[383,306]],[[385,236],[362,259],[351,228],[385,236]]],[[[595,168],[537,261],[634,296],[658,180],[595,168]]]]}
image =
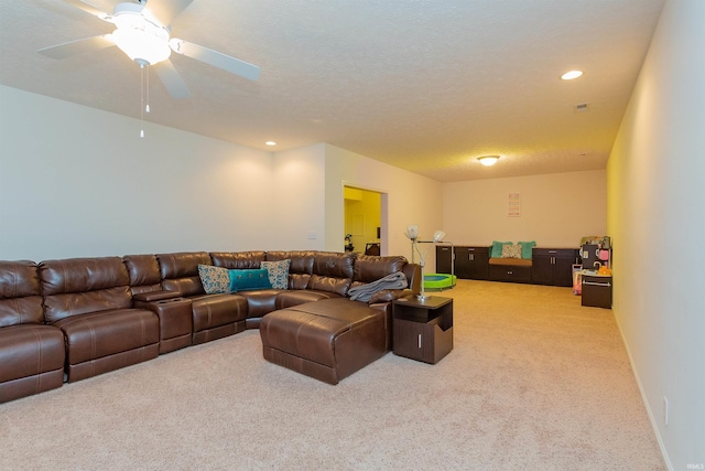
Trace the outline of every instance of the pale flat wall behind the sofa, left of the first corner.
{"type": "Polygon", "coordinates": [[[0,259],[270,246],[269,152],[0,86],[0,259]]]}

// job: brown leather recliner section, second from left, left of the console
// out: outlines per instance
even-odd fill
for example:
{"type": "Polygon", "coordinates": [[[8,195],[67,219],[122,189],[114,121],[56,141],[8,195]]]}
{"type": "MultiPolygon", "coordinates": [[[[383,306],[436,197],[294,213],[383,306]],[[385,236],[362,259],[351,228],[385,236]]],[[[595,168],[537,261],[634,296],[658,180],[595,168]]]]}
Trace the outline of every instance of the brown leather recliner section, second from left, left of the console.
{"type": "Polygon", "coordinates": [[[67,381],[95,376],[159,354],[159,318],[134,309],[120,257],[40,264],[46,322],[64,333],[67,381]]]}

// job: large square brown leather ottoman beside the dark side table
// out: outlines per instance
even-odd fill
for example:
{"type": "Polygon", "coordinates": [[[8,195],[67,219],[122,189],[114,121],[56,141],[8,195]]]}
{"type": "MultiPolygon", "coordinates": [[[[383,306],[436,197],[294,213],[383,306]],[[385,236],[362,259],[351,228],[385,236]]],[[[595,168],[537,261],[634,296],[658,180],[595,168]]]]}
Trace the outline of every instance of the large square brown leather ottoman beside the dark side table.
{"type": "Polygon", "coordinates": [[[349,298],[274,311],[260,323],[262,353],[269,362],[338,384],[387,353],[386,315],[349,298]]]}

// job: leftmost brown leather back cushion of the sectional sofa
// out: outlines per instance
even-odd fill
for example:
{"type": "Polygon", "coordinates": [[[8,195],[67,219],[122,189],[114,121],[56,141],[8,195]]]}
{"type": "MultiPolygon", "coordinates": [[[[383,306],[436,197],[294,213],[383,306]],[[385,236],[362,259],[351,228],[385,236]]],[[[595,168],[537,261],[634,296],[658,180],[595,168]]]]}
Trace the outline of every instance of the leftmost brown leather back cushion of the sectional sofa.
{"type": "Polygon", "coordinates": [[[36,264],[0,261],[0,328],[40,323],[44,323],[44,310],[36,264]]]}

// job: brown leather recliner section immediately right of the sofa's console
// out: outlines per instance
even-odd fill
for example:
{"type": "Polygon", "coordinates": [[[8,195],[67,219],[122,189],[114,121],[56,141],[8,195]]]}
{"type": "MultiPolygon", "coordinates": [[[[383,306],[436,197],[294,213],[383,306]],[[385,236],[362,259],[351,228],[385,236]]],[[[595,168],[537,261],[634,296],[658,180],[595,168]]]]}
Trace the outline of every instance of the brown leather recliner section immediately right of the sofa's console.
{"type": "Polygon", "coordinates": [[[158,254],[162,288],[189,299],[193,344],[210,342],[245,330],[247,300],[235,295],[206,295],[198,265],[213,265],[207,251],[158,254]]]}

